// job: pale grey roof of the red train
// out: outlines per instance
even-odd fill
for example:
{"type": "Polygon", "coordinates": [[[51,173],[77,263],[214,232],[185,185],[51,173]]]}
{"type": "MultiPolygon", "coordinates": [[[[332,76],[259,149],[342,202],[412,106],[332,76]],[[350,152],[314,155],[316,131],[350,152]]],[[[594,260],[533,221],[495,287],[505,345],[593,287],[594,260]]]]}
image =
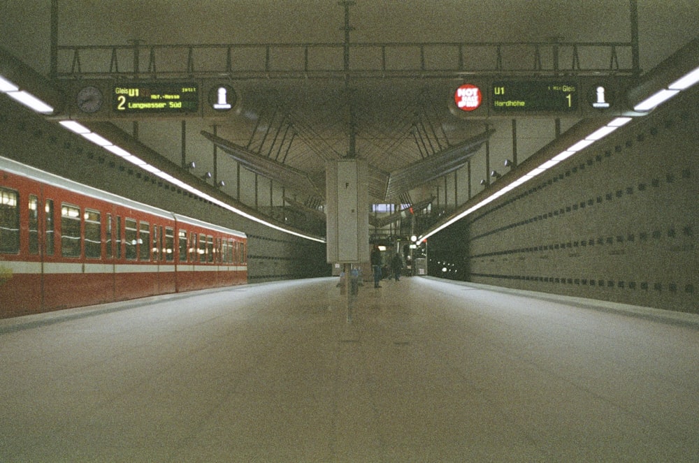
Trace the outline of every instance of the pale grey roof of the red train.
{"type": "Polygon", "coordinates": [[[159,207],[154,207],[151,205],[140,203],[138,201],[125,198],[124,196],[119,196],[108,191],[97,189],[93,186],[80,184],[78,182],[66,179],[59,175],[55,175],[50,172],[45,172],[44,170],[38,168],[27,166],[27,164],[23,164],[3,156],[0,156],[0,170],[6,170],[7,172],[11,172],[15,175],[21,175],[22,177],[35,179],[45,184],[57,186],[58,188],[72,191],[73,193],[80,193],[91,198],[98,198],[107,201],[108,203],[115,203],[125,207],[131,207],[131,209],[139,210],[141,212],[146,212],[148,214],[153,214],[156,216],[161,216],[164,219],[175,219],[182,223],[189,223],[190,225],[194,226],[206,227],[212,230],[217,230],[222,233],[229,233],[238,237],[247,237],[245,233],[238,230],[233,230],[232,228],[226,228],[223,226],[216,225],[215,223],[201,221],[199,219],[194,219],[193,217],[184,216],[182,214],[175,214],[174,212],[170,212],[159,207]]]}

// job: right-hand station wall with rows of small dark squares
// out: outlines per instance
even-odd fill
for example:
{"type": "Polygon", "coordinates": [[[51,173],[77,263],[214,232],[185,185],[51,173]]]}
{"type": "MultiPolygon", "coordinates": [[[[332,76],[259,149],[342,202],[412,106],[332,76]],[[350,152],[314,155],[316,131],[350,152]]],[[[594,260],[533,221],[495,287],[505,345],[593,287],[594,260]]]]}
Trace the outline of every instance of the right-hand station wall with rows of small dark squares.
{"type": "Polygon", "coordinates": [[[648,118],[474,216],[470,281],[699,312],[697,112],[648,118]]]}

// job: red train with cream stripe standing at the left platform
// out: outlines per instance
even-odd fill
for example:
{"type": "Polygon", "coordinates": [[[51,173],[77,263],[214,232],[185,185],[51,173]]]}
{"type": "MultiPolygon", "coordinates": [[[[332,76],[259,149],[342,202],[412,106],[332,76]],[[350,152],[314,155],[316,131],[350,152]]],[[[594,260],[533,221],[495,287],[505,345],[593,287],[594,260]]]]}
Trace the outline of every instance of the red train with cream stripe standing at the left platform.
{"type": "Polygon", "coordinates": [[[245,233],[0,156],[0,318],[245,283],[245,233]]]}

